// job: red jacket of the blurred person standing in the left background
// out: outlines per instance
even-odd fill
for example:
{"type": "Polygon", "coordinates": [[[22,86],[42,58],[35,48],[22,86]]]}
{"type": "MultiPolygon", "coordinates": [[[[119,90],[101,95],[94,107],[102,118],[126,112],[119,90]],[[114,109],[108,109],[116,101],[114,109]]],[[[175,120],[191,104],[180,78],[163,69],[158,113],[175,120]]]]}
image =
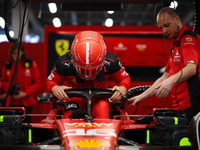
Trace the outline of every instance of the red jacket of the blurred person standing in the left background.
{"type": "MultiPolygon", "coordinates": [[[[3,67],[1,82],[4,92],[8,91],[13,76],[14,66],[14,61],[7,61],[3,67]]],[[[41,77],[36,62],[30,59],[24,61],[20,60],[18,62],[13,84],[19,84],[20,91],[25,92],[27,97],[22,99],[13,99],[12,105],[25,107],[36,105],[37,101],[34,98],[34,94],[41,86],[41,77]]],[[[9,105],[11,98],[11,95],[7,97],[5,106],[9,105]]]]}

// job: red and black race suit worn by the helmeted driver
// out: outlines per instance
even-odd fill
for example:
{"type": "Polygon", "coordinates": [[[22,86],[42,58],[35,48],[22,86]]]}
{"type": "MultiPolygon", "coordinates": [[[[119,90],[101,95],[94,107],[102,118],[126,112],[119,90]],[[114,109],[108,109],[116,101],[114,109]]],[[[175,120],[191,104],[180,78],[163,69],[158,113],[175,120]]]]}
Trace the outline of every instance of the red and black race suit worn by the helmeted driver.
{"type": "MultiPolygon", "coordinates": [[[[54,69],[47,78],[48,92],[52,93],[55,85],[66,85],[72,88],[95,87],[107,88],[108,78],[111,77],[118,86],[124,86],[127,90],[130,86],[130,76],[121,65],[119,58],[112,53],[106,54],[106,63],[93,80],[84,80],[78,76],[71,63],[71,51],[61,56],[54,65],[54,69]]],[[[70,98],[66,101],[64,117],[68,118],[72,110],[86,109],[86,102],[80,98],[70,98]]],[[[101,99],[92,102],[92,116],[95,118],[109,118],[109,100],[101,99]]]]}

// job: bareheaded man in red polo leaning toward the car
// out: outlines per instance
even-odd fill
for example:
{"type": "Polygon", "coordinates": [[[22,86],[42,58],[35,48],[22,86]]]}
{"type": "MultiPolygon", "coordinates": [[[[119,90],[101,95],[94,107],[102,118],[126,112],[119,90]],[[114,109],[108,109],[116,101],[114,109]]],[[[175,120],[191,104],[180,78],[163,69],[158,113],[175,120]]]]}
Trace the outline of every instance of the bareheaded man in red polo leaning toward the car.
{"type": "Polygon", "coordinates": [[[170,93],[173,108],[186,115],[189,124],[200,111],[199,35],[183,26],[179,15],[169,7],[159,11],[157,25],[172,39],[171,56],[163,75],[148,90],[128,101],[135,105],[153,94],[162,98],[170,93]]]}

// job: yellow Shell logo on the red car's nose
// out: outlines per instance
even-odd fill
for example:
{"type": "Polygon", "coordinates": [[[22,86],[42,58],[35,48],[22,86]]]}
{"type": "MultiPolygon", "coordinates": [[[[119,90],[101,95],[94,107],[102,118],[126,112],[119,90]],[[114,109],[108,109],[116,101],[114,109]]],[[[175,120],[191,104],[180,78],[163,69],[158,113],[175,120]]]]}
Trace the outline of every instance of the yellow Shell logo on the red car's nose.
{"type": "Polygon", "coordinates": [[[92,139],[86,139],[86,140],[77,140],[72,143],[73,146],[76,146],[77,148],[104,148],[110,146],[109,143],[102,141],[102,140],[92,140],[92,139]]]}

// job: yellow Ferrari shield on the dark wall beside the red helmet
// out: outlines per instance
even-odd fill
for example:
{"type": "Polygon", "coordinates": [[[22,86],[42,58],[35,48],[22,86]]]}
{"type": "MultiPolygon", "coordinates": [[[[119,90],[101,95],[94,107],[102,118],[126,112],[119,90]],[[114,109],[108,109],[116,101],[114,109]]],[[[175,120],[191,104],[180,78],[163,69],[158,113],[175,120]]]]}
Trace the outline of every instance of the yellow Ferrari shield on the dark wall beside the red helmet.
{"type": "Polygon", "coordinates": [[[64,39],[56,40],[55,49],[59,56],[66,54],[69,49],[69,41],[64,39]]]}

